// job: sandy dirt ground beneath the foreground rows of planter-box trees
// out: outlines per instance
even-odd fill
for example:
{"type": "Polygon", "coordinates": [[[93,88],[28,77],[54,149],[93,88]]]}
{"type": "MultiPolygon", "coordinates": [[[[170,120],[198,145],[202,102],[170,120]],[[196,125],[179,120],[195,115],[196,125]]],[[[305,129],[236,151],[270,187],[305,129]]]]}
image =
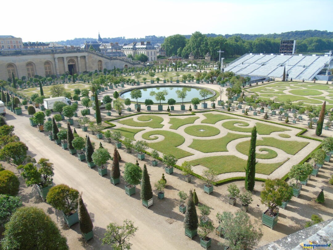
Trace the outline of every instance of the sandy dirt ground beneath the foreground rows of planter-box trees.
{"type": "MultiPolygon", "coordinates": [[[[112,95],[112,92],[107,92],[107,94],[112,95]]],[[[26,110],[23,110],[23,114],[20,116],[7,110],[7,123],[15,126],[14,132],[29,147],[29,154],[37,161],[44,157],[54,163],[54,185],[65,183],[82,192],[83,200],[94,223],[94,239],[86,243],[82,239],[79,224],[69,229],[64,223],[61,211],[55,211],[50,205],[42,202],[38,197],[37,190],[26,187],[21,177],[19,177],[21,181],[19,195],[22,196],[25,205],[40,207],[51,216],[63,235],[66,236],[70,249],[109,249],[108,246],[101,246],[100,238],[103,238],[110,222],[122,224],[125,219],[133,220],[134,225],[139,228],[131,239],[132,249],[202,249],[199,237],[194,237],[191,240],[184,235],[184,215],[178,210],[180,203],[177,193],[179,190],[188,193],[189,189],[195,189],[199,202],[212,208],[209,218],[215,226],[217,226],[215,217],[217,212],[231,211],[234,213],[240,209],[239,201],[235,206],[228,204],[226,191],[228,184],[214,187],[214,192],[208,195],[203,192],[203,181],[192,177],[192,182],[187,183],[177,169],[174,169],[172,175],[165,174],[167,180],[165,198],[159,200],[157,191],[154,190],[154,205],[147,209],[142,206],[140,200],[140,186],[137,186],[135,195],[129,197],[125,194],[125,182],[122,179],[124,164],[125,162],[135,163],[137,157],[134,152],[128,154],[124,147],[119,150],[122,157],[120,162],[122,176],[120,184],[114,186],[110,183],[111,161],[107,164],[108,174],[101,177],[96,167],[90,169],[85,161],[80,162],[76,155],[69,154],[68,150],[63,150],[54,141],[50,141],[46,132],[38,132],[36,127],[31,127],[28,117],[26,110]]],[[[62,126],[65,127],[65,123],[62,123],[62,126]]],[[[76,130],[81,136],[85,136],[87,133],[81,129],[76,130]]],[[[88,134],[90,134],[89,131],[88,134]]],[[[104,139],[99,140],[91,134],[90,137],[97,145],[101,141],[109,152],[113,152],[114,142],[107,143],[104,139]]],[[[147,156],[145,160],[139,160],[139,163],[141,167],[146,163],[154,187],[154,183],[161,178],[165,171],[161,162],[154,167],[151,161],[152,159],[147,156]]],[[[4,166],[19,175],[14,167],[8,164],[4,164],[4,166]]],[[[261,226],[261,215],[266,207],[260,202],[261,183],[257,182],[253,192],[253,203],[249,206],[248,214],[253,221],[259,220],[257,225],[263,231],[264,235],[259,245],[265,245],[304,228],[305,222],[312,214],[318,214],[324,220],[331,218],[333,214],[333,186],[328,184],[328,180],[332,174],[332,163],[325,163],[317,177],[312,177],[308,184],[303,186],[299,198],[293,197],[286,209],[280,209],[278,224],[273,230],[261,226]],[[325,203],[316,204],[314,199],[322,188],[324,189],[325,203]]],[[[243,181],[235,183],[240,189],[243,189],[243,181]]],[[[199,214],[198,209],[197,213],[199,214]]],[[[209,236],[212,237],[210,249],[221,249],[217,242],[223,242],[224,239],[218,238],[214,232],[209,236]]]]}

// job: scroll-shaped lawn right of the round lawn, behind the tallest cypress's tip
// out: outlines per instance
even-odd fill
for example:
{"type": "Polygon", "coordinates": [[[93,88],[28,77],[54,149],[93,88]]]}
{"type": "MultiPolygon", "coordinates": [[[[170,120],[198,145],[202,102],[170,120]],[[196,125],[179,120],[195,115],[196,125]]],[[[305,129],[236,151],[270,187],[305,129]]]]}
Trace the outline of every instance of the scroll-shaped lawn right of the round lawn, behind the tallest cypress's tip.
{"type": "MultiPolygon", "coordinates": [[[[249,124],[245,121],[226,121],[222,123],[222,126],[226,129],[232,130],[232,131],[238,131],[238,132],[251,132],[253,127],[247,127],[249,126],[249,124]],[[240,127],[236,127],[235,124],[238,124],[239,126],[242,126],[243,128],[240,127]]],[[[265,124],[265,123],[261,123],[261,122],[257,122],[256,123],[257,126],[257,133],[259,135],[269,135],[272,132],[277,132],[277,131],[287,131],[290,129],[287,128],[280,128],[277,126],[273,126],[270,124],[265,124]]]]}

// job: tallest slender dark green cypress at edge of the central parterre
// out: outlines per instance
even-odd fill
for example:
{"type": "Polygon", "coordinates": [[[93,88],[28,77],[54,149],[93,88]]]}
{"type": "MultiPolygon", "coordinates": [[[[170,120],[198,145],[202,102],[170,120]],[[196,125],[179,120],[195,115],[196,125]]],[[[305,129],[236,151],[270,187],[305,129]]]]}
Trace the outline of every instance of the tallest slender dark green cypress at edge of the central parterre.
{"type": "Polygon", "coordinates": [[[252,191],[254,188],[254,177],[255,177],[255,143],[257,139],[257,128],[253,127],[251,133],[250,149],[247,158],[247,164],[245,169],[245,189],[252,191]]]}

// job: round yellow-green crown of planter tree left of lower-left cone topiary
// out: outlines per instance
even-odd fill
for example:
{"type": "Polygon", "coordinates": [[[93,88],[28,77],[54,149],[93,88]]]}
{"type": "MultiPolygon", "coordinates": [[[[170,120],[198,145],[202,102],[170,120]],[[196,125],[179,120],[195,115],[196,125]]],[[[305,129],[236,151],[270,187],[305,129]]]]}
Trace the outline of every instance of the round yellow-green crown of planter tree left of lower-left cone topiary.
{"type": "Polygon", "coordinates": [[[61,210],[66,215],[75,213],[78,208],[79,191],[65,184],[50,188],[46,200],[55,209],[61,210]]]}

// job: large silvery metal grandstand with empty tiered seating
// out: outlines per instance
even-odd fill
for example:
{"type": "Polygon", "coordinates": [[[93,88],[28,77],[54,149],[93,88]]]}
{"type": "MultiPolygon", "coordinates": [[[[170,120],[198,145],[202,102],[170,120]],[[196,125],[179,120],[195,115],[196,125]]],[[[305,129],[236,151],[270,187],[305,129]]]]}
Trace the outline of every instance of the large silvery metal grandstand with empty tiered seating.
{"type": "Polygon", "coordinates": [[[289,78],[312,80],[319,72],[333,67],[332,54],[284,55],[284,54],[245,54],[229,63],[224,71],[237,75],[282,78],[283,68],[289,78]]]}

